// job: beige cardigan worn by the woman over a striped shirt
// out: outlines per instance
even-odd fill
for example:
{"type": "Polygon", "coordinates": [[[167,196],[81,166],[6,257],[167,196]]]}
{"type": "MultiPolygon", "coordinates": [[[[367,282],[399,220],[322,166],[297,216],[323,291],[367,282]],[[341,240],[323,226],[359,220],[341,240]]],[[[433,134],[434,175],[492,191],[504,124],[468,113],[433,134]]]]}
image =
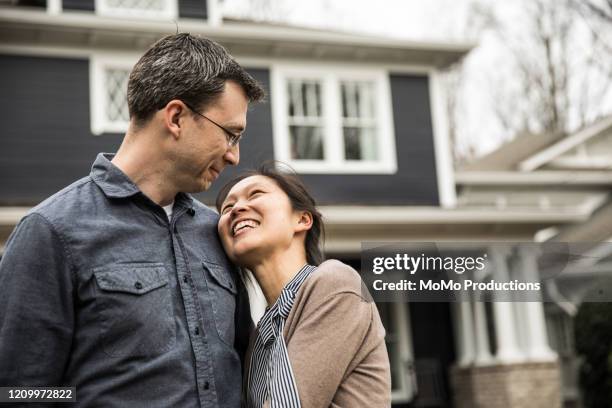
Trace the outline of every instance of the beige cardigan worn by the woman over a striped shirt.
{"type": "Polygon", "coordinates": [[[300,287],[283,333],[302,408],[391,405],[385,329],[353,268],[323,262],[300,287]]]}

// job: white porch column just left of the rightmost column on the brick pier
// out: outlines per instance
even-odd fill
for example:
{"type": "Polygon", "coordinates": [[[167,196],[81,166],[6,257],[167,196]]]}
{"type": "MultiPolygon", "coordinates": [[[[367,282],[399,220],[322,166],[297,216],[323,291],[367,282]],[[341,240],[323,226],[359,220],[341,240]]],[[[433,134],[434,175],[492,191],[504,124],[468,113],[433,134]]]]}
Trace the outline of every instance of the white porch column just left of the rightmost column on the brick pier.
{"type": "MultiPolygon", "coordinates": [[[[508,282],[508,250],[492,248],[489,250],[494,264],[493,277],[499,282],[508,282]]],[[[495,359],[500,363],[516,363],[523,361],[525,355],[518,345],[516,333],[516,319],[512,302],[509,300],[498,301],[493,299],[493,317],[495,322],[495,339],[497,342],[497,353],[495,359]]]]}

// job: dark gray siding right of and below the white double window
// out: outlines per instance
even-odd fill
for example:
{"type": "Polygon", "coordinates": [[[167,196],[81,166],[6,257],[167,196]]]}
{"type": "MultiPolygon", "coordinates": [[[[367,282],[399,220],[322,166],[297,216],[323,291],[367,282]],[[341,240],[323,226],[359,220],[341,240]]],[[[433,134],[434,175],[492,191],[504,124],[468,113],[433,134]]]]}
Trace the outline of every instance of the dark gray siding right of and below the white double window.
{"type": "Polygon", "coordinates": [[[397,173],[306,175],[321,204],[438,205],[426,76],[391,75],[397,173]]]}

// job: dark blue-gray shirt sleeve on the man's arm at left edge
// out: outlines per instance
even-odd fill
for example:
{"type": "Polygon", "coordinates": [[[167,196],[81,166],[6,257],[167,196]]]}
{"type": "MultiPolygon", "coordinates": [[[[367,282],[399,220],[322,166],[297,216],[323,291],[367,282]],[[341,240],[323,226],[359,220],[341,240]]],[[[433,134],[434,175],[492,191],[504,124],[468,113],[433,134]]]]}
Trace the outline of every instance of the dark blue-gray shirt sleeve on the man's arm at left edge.
{"type": "Polygon", "coordinates": [[[59,386],[74,327],[70,256],[41,215],[11,234],[0,261],[0,386],[59,386]]]}

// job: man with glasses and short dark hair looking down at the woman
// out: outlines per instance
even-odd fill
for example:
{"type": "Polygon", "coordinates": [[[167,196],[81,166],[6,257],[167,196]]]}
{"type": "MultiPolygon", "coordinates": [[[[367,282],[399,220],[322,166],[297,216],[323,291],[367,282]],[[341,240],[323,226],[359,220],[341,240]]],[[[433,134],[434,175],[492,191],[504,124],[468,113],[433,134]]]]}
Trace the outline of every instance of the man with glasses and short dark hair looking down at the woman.
{"type": "Polygon", "coordinates": [[[0,262],[0,386],[79,406],[238,407],[237,281],[217,215],[187,193],[239,160],[262,88],[220,45],[155,43],[117,154],[32,209],[0,262]]]}

